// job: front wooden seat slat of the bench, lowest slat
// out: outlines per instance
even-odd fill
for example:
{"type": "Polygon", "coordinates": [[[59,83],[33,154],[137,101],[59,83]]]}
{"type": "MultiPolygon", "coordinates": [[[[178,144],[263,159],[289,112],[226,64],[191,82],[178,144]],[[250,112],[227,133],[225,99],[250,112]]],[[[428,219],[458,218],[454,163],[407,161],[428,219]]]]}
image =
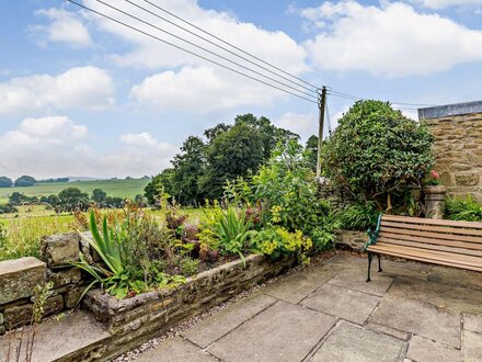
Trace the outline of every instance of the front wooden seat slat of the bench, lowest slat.
{"type": "Polygon", "coordinates": [[[435,250],[421,250],[421,249],[414,249],[410,247],[403,247],[403,246],[395,246],[395,245],[379,245],[374,246],[372,250],[380,250],[380,251],[393,251],[393,252],[401,252],[406,256],[413,256],[413,257],[422,257],[422,258],[431,258],[434,260],[443,260],[446,262],[451,262],[456,264],[461,265],[472,265],[482,268],[482,260],[481,258],[477,257],[469,257],[463,256],[463,258],[460,258],[461,256],[454,256],[449,252],[443,252],[443,251],[435,251],[435,250]]]}

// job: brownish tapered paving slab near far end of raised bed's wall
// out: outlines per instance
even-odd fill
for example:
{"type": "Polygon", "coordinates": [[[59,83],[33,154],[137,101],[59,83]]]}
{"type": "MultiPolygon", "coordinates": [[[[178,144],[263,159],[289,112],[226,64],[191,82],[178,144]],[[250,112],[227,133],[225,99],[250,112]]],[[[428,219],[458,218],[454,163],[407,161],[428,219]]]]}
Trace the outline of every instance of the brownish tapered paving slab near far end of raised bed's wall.
{"type": "Polygon", "coordinates": [[[335,276],[336,273],[337,271],[329,267],[309,268],[279,283],[269,285],[264,293],[297,304],[335,276]]]}

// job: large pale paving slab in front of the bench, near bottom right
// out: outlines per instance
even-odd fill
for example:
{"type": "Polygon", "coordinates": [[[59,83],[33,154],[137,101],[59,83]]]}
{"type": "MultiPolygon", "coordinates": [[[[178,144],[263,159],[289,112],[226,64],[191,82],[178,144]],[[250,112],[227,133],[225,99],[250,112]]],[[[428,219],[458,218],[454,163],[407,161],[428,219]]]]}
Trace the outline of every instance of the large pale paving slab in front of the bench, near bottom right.
{"type": "Polygon", "coordinates": [[[402,297],[385,297],[369,321],[460,348],[459,313],[402,297]]]}

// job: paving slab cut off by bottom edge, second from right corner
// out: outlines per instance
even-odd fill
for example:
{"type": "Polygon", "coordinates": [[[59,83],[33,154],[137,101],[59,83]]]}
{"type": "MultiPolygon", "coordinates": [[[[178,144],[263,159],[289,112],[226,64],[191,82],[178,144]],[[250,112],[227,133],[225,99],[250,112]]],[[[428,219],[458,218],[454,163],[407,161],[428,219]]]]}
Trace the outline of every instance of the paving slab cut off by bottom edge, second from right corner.
{"type": "Polygon", "coordinates": [[[413,336],[406,357],[418,362],[460,362],[460,350],[437,343],[429,339],[413,336]]]}

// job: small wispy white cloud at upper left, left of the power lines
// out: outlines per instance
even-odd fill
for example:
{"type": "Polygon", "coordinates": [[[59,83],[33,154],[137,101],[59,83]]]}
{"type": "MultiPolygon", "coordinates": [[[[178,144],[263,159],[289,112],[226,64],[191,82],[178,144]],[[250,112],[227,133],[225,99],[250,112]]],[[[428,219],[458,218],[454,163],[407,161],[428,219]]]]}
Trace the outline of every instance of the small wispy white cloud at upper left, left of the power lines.
{"type": "Polygon", "coordinates": [[[32,36],[41,46],[47,43],[67,43],[72,47],[85,47],[92,45],[92,38],[87,26],[74,13],[64,9],[42,9],[35,12],[46,16],[50,22],[47,25],[33,25],[30,27],[32,36]]]}

